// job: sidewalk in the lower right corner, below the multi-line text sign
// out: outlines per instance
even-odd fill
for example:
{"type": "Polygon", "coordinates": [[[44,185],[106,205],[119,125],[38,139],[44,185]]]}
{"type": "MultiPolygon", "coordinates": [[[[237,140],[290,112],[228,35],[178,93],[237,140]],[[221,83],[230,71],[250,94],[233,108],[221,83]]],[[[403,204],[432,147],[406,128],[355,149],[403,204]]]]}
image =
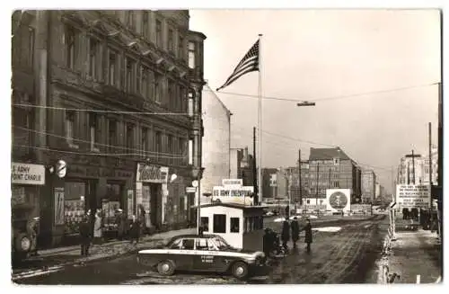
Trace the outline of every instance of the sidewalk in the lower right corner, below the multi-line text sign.
{"type": "Polygon", "coordinates": [[[397,231],[395,236],[388,261],[390,272],[401,277],[395,280],[396,283],[435,283],[438,278],[441,280],[442,245],[436,233],[418,229],[397,231]]]}

